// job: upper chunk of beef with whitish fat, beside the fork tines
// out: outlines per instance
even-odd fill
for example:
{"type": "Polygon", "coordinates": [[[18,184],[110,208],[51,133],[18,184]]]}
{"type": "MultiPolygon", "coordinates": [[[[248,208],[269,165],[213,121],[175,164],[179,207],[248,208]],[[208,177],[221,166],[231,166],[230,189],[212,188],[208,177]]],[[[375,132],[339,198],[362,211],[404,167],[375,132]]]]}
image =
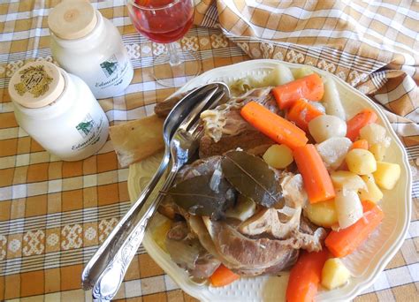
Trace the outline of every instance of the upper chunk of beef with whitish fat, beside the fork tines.
{"type": "Polygon", "coordinates": [[[216,109],[202,112],[205,134],[200,141],[200,157],[222,155],[236,147],[245,151],[254,149],[257,154],[274,144],[273,140],[258,132],[240,116],[240,109],[250,101],[258,102],[270,111],[280,114],[270,90],[270,87],[253,89],[247,94],[217,106],[216,109]],[[257,147],[259,149],[255,150],[257,147]]]}

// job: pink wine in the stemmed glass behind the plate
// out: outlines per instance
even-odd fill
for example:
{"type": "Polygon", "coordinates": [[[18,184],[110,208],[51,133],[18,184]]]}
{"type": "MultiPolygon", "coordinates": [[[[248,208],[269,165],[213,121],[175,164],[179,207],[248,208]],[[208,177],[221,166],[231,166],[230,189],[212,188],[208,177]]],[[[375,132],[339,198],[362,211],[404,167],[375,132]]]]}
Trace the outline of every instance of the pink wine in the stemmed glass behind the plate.
{"type": "Polygon", "coordinates": [[[149,40],[170,43],[182,38],[194,21],[190,0],[136,0],[141,8],[133,7],[133,26],[149,40]]]}

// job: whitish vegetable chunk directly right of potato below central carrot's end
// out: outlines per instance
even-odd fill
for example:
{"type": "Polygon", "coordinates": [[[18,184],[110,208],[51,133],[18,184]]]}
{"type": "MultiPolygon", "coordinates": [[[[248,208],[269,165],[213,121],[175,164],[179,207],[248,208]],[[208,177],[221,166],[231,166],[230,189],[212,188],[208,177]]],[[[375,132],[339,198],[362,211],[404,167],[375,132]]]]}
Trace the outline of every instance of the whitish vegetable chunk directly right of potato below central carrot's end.
{"type": "Polygon", "coordinates": [[[362,204],[358,194],[353,190],[340,190],[335,197],[339,227],[342,229],[356,223],[362,217],[362,204]]]}

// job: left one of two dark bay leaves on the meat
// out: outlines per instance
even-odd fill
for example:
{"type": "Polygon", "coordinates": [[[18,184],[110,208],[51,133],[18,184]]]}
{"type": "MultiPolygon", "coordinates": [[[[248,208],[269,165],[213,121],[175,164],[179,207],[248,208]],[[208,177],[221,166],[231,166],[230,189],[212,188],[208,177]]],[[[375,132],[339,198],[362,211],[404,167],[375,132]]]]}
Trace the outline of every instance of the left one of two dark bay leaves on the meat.
{"type": "Polygon", "coordinates": [[[235,200],[235,190],[225,178],[221,178],[216,190],[209,186],[211,175],[187,178],[167,192],[174,202],[191,215],[210,216],[219,219],[235,200]]]}

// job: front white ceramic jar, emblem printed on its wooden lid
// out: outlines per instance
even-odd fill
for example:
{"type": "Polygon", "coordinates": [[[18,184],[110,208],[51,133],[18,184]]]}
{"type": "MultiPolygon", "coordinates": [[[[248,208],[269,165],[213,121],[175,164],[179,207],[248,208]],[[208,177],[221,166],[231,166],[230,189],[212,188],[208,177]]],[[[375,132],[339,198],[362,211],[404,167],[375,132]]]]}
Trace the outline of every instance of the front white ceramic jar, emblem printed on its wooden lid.
{"type": "Polygon", "coordinates": [[[20,127],[64,161],[94,155],[108,138],[108,119],[89,87],[55,64],[25,64],[9,94],[20,127]]]}

